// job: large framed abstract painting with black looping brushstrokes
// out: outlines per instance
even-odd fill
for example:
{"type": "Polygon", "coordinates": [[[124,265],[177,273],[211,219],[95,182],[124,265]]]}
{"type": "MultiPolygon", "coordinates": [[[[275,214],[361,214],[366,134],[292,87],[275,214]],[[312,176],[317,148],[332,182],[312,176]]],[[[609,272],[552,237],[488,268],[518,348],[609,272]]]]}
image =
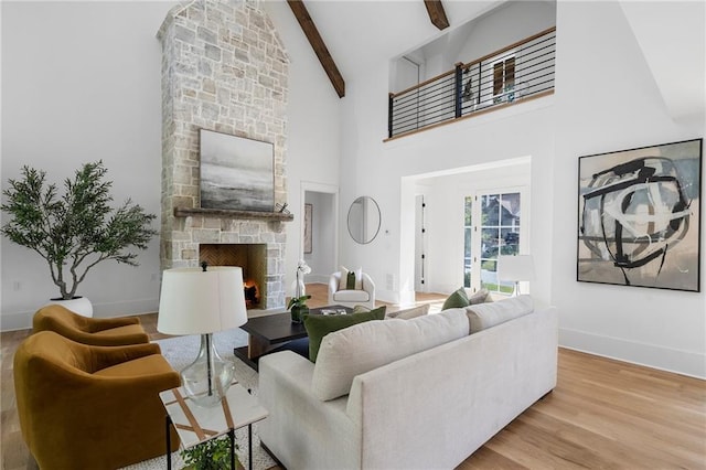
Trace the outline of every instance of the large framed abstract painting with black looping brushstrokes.
{"type": "Polygon", "coordinates": [[[578,159],[577,280],[700,291],[703,139],[578,159]]]}

